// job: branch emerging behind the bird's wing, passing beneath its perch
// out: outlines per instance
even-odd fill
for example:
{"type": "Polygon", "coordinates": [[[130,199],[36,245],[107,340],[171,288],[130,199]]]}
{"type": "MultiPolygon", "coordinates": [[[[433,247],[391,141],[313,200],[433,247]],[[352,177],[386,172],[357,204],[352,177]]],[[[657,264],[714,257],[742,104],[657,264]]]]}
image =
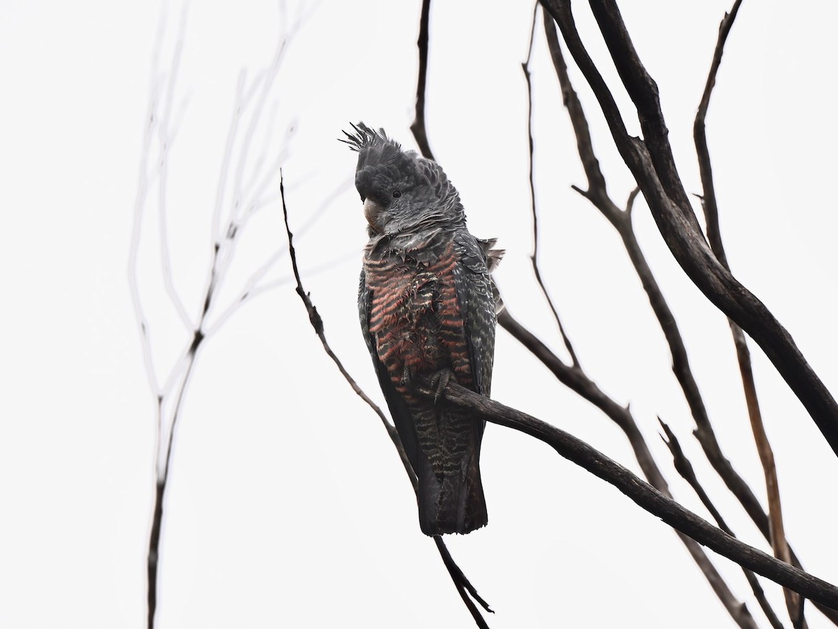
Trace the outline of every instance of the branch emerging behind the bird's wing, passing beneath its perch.
{"type": "MultiPolygon", "coordinates": [[[[536,358],[539,358],[562,384],[581,395],[592,405],[597,406],[623,430],[629,439],[629,444],[634,451],[640,469],[649,483],[664,495],[671,497],[669,486],[660,472],[660,468],[654,462],[649,446],[647,446],[629,408],[618,405],[617,402],[604,394],[602,389],[599,389],[597,384],[589,379],[580,367],[563,363],[539,338],[536,338],[534,334],[515,321],[509,310],[504,310],[499,314],[498,322],[501,327],[504,327],[507,332],[517,338],[525,348],[529,349],[536,358]]],[[[733,595],[727,583],[722,579],[722,575],[719,575],[716,568],[711,564],[701,546],[685,534],[679,533],[678,535],[701,572],[705,575],[713,591],[722,601],[722,605],[727,609],[733,620],[737,622],[737,625],[755,627],[756,623],[753,621],[750,612],[747,611],[747,607],[742,602],[737,601],[736,596],[733,595]]]]}

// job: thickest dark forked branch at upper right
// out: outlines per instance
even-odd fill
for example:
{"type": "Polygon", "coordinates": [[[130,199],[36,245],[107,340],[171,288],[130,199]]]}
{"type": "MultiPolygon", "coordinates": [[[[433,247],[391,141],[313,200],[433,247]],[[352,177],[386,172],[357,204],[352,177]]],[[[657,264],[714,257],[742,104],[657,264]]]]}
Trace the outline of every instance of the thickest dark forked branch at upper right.
{"type": "Polygon", "coordinates": [[[701,234],[675,169],[657,85],[640,63],[616,3],[591,0],[591,7],[623,85],[638,108],[643,140],[630,137],[626,131],[608,85],[579,39],[569,0],[542,0],[542,4],[556,20],[568,49],[591,85],[618,151],[644,193],[675,260],[705,296],[763,348],[838,454],[838,404],[789,333],[763,302],[716,260],[701,234]]]}

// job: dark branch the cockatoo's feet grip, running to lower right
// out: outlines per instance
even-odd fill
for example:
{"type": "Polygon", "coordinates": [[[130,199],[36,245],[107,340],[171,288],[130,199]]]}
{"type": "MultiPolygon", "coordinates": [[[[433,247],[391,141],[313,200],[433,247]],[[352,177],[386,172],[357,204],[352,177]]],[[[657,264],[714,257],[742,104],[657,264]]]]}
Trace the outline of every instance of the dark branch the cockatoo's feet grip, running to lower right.
{"type": "MultiPolygon", "coordinates": [[[[429,382],[416,387],[416,391],[429,399],[437,394],[437,389],[429,382]]],[[[789,587],[813,601],[838,608],[838,587],[835,585],[775,559],[770,554],[744,544],[714,527],[577,437],[520,410],[474,393],[453,379],[449,380],[444,394],[448,402],[471,410],[484,420],[544,441],[568,461],[617,487],[639,507],[738,565],[789,587]]]]}

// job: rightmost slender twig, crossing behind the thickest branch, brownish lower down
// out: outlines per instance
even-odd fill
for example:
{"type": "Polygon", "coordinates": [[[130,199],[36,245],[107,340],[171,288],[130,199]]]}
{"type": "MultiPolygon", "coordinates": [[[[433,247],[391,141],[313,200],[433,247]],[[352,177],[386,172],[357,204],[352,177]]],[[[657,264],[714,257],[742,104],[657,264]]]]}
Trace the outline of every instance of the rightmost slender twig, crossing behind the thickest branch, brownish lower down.
{"type": "MultiPolygon", "coordinates": [[[[722,232],[719,226],[719,211],[716,204],[716,188],[713,184],[713,170],[710,160],[710,149],[707,146],[706,136],[706,116],[707,108],[710,106],[710,97],[713,87],[716,85],[716,73],[722,64],[722,54],[724,53],[725,43],[727,42],[727,35],[730,33],[733,21],[736,19],[739,7],[742,0],[736,0],[733,3],[730,13],[725,13],[722,22],[719,24],[719,36],[716,40],[716,49],[713,51],[713,59],[710,66],[710,72],[707,74],[706,84],[704,86],[704,93],[701,95],[701,103],[696,112],[696,121],[693,124],[693,136],[696,142],[696,154],[698,156],[699,171],[701,173],[701,186],[704,188],[704,193],[701,196],[701,206],[704,209],[704,216],[707,229],[707,240],[710,243],[713,253],[716,258],[722,263],[727,270],[730,270],[730,265],[727,262],[727,255],[725,254],[724,245],[722,244],[722,232]]],[[[763,473],[765,476],[765,487],[768,493],[768,518],[769,531],[771,534],[771,546],[774,556],[778,559],[783,559],[786,563],[791,564],[791,552],[789,551],[789,544],[785,538],[785,527],[783,523],[783,508],[780,503],[779,481],[777,477],[777,468],[774,465],[774,455],[771,444],[768,441],[768,435],[765,432],[763,425],[762,413],[759,409],[759,400],[757,397],[757,389],[753,379],[753,369],[751,367],[751,353],[747,348],[747,340],[742,328],[737,325],[732,319],[728,318],[733,343],[736,347],[737,362],[739,363],[739,371],[742,375],[742,389],[745,393],[745,402],[747,405],[747,414],[751,420],[751,429],[753,431],[753,439],[757,445],[759,460],[763,465],[763,473]]],[[[803,601],[799,596],[789,590],[784,590],[786,599],[786,606],[789,608],[789,616],[795,629],[800,629],[805,624],[803,614],[803,601]]]]}

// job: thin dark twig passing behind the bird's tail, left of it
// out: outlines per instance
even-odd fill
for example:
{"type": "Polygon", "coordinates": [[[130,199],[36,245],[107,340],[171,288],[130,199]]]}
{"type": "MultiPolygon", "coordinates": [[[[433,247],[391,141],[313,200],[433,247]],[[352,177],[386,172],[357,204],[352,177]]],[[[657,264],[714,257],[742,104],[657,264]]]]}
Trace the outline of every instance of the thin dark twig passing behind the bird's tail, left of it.
{"type": "MultiPolygon", "coordinates": [[[[399,438],[399,433],[396,431],[396,426],[391,424],[389,420],[387,420],[384,412],[380,409],[378,405],[375,404],[370,397],[365,394],[364,389],[361,389],[359,384],[355,382],[352,376],[349,375],[349,372],[344,367],[344,364],[340,362],[340,358],[334,353],[331,347],[329,347],[328,342],[326,341],[326,335],[323,333],[323,319],[320,317],[320,313],[317,312],[317,307],[314,306],[311,296],[308,292],[303,289],[303,281],[300,279],[300,272],[297,268],[297,252],[294,250],[293,244],[293,235],[291,232],[291,227],[288,224],[288,209],[287,204],[285,202],[285,184],[282,179],[282,171],[280,171],[279,175],[279,194],[280,198],[282,199],[282,216],[285,219],[285,230],[286,235],[288,238],[288,254],[291,257],[291,266],[294,273],[294,279],[297,281],[297,295],[300,296],[300,299],[303,300],[303,305],[306,307],[306,312],[308,312],[308,321],[311,322],[312,327],[314,328],[314,333],[317,334],[318,338],[320,339],[320,343],[323,343],[323,351],[326,352],[329,358],[332,359],[334,364],[338,367],[340,374],[344,377],[344,379],[349,383],[349,386],[352,387],[355,394],[357,394],[361,400],[364,400],[370,408],[375,411],[375,415],[379,416],[381,423],[384,425],[385,430],[387,431],[387,435],[390,436],[393,445],[396,446],[396,451],[399,453],[399,458],[401,458],[401,464],[404,466],[405,471],[407,472],[407,476],[411,479],[411,484],[413,486],[413,491],[418,491],[418,482],[416,480],[416,473],[413,472],[413,468],[411,467],[410,461],[407,459],[407,453],[405,451],[404,446],[401,444],[401,439],[399,438]]],[[[477,624],[478,627],[481,629],[489,629],[489,626],[486,624],[484,617],[480,614],[477,606],[474,605],[474,601],[477,601],[480,606],[484,608],[484,610],[492,612],[489,608],[489,604],[483,600],[483,598],[478,595],[476,588],[471,584],[471,582],[466,578],[466,575],[463,574],[463,570],[460,570],[459,566],[454,562],[451,557],[450,552],[448,551],[445,543],[442,541],[442,538],[436,536],[434,541],[437,544],[437,550],[439,551],[440,556],[442,557],[442,563],[445,565],[446,569],[448,570],[448,575],[451,576],[451,580],[453,581],[454,586],[457,588],[458,594],[460,598],[463,599],[463,603],[468,608],[468,611],[471,613],[474,622],[477,624]]],[[[494,613],[494,612],[492,612],[494,613]]]]}

